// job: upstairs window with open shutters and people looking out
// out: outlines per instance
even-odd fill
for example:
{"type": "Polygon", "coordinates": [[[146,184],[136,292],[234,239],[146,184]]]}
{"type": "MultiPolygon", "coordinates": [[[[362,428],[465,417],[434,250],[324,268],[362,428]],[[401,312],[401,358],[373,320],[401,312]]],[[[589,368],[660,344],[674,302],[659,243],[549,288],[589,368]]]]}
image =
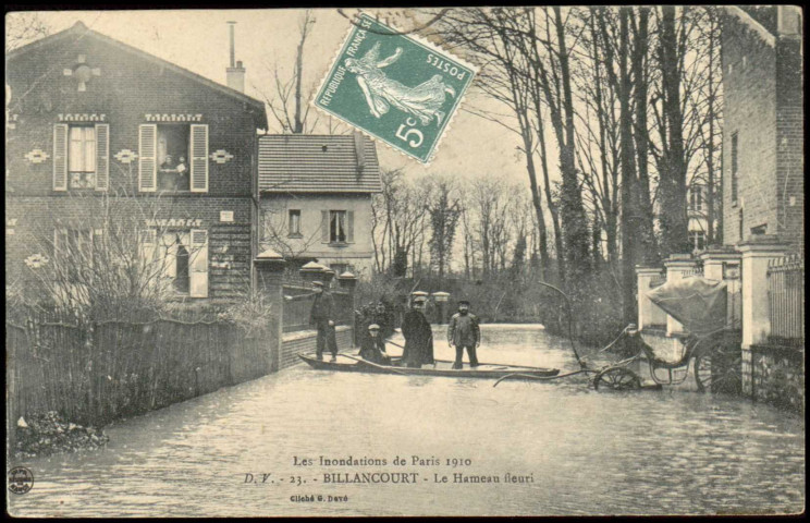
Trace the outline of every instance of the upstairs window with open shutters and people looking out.
{"type": "Polygon", "coordinates": [[[140,192],[208,192],[208,125],[142,124],[138,129],[140,192]]]}

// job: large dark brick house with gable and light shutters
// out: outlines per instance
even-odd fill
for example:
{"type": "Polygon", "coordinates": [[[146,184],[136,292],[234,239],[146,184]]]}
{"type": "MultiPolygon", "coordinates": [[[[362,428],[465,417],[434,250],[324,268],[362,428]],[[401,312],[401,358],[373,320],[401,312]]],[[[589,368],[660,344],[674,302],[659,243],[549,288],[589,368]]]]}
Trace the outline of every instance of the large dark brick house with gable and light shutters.
{"type": "Polygon", "coordinates": [[[261,101],[81,22],[7,53],[5,82],[7,284],[115,216],[176,299],[249,288],[261,101]]]}

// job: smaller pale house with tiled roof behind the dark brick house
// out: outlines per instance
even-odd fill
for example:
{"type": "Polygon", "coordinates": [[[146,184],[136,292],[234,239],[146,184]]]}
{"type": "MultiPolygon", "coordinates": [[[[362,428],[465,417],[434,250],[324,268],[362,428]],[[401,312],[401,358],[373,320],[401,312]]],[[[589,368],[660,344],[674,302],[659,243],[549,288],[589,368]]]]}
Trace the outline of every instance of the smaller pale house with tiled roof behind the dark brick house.
{"type": "Polygon", "coordinates": [[[293,265],[371,271],[371,196],[382,190],[373,142],[354,135],[259,137],[260,244],[293,265]]]}

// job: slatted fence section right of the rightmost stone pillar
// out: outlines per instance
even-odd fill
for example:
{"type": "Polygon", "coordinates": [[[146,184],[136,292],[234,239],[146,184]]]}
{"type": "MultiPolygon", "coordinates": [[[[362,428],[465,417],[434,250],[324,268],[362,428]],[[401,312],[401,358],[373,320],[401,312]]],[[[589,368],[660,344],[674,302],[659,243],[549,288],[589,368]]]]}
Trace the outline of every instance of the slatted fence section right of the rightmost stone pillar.
{"type": "Polygon", "coordinates": [[[805,344],[805,259],[787,256],[768,267],[771,340],[805,344]]]}

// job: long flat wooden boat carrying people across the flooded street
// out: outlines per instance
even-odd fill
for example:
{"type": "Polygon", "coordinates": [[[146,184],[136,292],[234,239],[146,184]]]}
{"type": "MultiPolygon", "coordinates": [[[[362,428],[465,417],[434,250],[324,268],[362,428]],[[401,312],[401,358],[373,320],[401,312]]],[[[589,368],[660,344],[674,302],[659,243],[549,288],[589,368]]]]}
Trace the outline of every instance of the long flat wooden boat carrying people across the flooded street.
{"type": "MultiPolygon", "coordinates": [[[[465,365],[464,368],[453,368],[450,360],[435,360],[435,365],[424,365],[421,368],[401,367],[397,365],[378,365],[367,362],[359,356],[338,354],[336,361],[318,360],[315,354],[298,354],[310,367],[318,370],[336,370],[344,373],[400,374],[405,376],[442,376],[453,378],[489,378],[498,379],[510,374],[520,374],[527,377],[550,377],[560,373],[559,368],[527,367],[524,365],[501,365],[496,363],[481,363],[477,367],[465,365]]],[[[396,363],[396,362],[395,362],[396,363]]]]}

